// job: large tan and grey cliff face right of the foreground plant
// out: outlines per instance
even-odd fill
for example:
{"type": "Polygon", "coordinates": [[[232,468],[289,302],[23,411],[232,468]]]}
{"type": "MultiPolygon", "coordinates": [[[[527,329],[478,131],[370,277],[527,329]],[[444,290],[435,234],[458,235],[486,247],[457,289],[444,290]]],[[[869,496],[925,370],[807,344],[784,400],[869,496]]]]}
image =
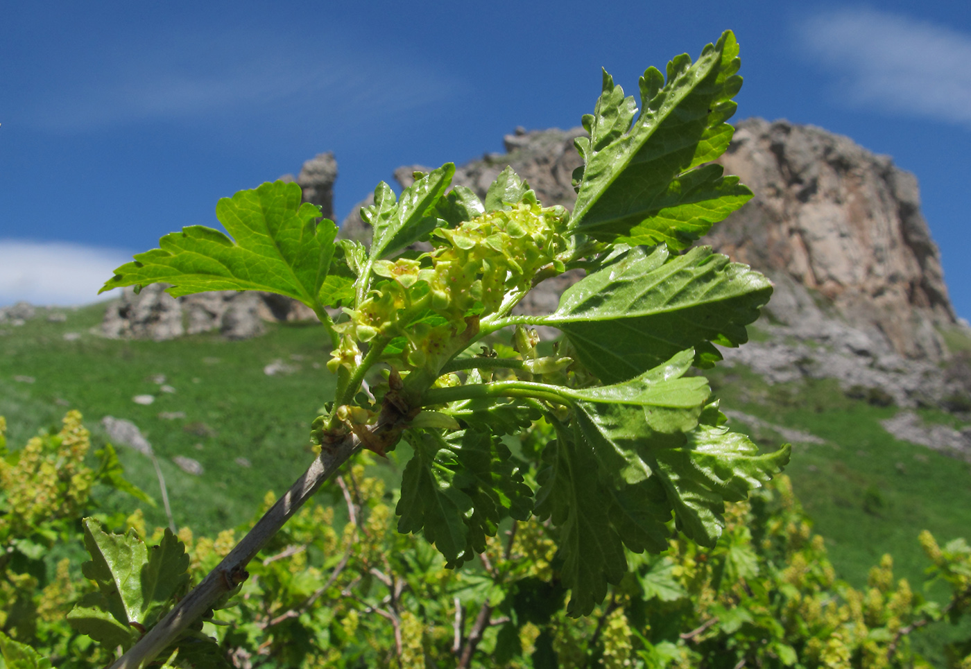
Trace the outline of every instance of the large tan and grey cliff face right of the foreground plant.
{"type": "Polygon", "coordinates": [[[826,316],[877,354],[941,360],[956,318],[913,174],[847,137],[787,121],[738,124],[720,162],[755,192],[705,242],[766,272],[769,314],[818,338],[826,316]]]}

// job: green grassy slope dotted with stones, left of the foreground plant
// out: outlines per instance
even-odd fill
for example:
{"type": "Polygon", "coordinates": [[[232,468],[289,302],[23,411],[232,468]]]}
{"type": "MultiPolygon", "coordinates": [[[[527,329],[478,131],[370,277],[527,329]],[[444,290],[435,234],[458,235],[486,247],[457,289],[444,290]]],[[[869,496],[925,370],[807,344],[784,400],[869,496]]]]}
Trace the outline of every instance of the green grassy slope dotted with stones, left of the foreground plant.
{"type": "MultiPolygon", "coordinates": [[[[303,472],[310,458],[310,421],[333,391],[319,326],[274,324],[265,336],[243,342],[217,334],[117,341],[88,332],[104,310],[95,305],[68,312],[65,322],[33,318],[4,328],[0,415],[7,417],[12,446],[55,424],[69,408],[84,414],[96,444],[106,441],[101,418],[132,420],[158,455],[176,522],[204,533],[251,518],[266,490],[281,492],[303,472]],[[66,333],[81,337],[67,341],[66,333]],[[264,366],[277,359],[296,371],[264,374],[264,366]],[[174,393],[160,391],[152,379],[159,374],[174,393]],[[142,394],[155,401],[149,406],[132,401],[142,394]],[[185,418],[159,416],[176,412],[185,418]],[[176,455],[198,460],[204,474],[185,474],[172,461],[176,455]],[[238,457],[251,467],[238,464],[238,457]]],[[[160,499],[149,459],[131,449],[118,451],[129,478],[160,499]]],[[[132,506],[117,496],[109,504],[132,506]]],[[[160,505],[146,512],[151,522],[164,524],[160,505]]]]}

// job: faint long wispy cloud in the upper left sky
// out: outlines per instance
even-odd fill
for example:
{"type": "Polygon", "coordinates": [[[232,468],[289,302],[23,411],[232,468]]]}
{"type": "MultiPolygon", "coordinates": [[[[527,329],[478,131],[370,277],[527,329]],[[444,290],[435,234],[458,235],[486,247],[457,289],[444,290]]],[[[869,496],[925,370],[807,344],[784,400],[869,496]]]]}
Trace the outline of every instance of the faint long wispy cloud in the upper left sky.
{"type": "Polygon", "coordinates": [[[400,114],[464,84],[378,50],[307,46],[246,31],[119,44],[110,59],[70,68],[28,103],[25,120],[52,130],[316,112],[321,122],[400,114]]]}

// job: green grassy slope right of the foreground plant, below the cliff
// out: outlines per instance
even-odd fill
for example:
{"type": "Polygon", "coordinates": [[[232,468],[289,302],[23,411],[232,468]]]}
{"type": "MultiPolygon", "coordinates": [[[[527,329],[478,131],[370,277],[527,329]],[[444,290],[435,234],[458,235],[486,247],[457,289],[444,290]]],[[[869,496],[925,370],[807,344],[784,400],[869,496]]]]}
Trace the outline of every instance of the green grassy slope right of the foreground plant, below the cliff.
{"type": "MultiPolygon", "coordinates": [[[[971,539],[971,465],[891,437],[880,421],[898,408],[851,399],[831,380],[769,386],[744,367],[705,375],[722,397],[722,408],[827,441],[794,444],[786,473],[841,579],[865,588],[870,568],[888,552],[896,578],[922,592],[930,563],[918,544],[921,530],[930,530],[942,545],[956,537],[971,539]]],[[[919,414],[960,424],[940,412],[919,414]]],[[[763,449],[774,450],[784,441],[771,430],[733,424],[763,449]]],[[[943,586],[928,594],[938,601],[947,598],[943,586]]],[[[934,625],[915,637],[915,648],[939,664],[943,644],[969,632],[968,621],[957,628],[934,625]]]]}

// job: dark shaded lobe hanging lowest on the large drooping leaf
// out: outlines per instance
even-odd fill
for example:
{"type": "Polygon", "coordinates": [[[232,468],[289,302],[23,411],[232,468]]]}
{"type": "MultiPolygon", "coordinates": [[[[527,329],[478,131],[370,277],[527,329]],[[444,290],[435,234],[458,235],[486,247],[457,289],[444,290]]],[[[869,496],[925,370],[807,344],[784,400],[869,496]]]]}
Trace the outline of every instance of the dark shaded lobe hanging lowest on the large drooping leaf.
{"type": "Polygon", "coordinates": [[[623,546],[610,522],[609,491],[600,481],[596,454],[575,430],[557,425],[557,438],[544,452],[536,515],[559,528],[561,579],[571,588],[567,614],[587,616],[627,570],[623,546]]]}

